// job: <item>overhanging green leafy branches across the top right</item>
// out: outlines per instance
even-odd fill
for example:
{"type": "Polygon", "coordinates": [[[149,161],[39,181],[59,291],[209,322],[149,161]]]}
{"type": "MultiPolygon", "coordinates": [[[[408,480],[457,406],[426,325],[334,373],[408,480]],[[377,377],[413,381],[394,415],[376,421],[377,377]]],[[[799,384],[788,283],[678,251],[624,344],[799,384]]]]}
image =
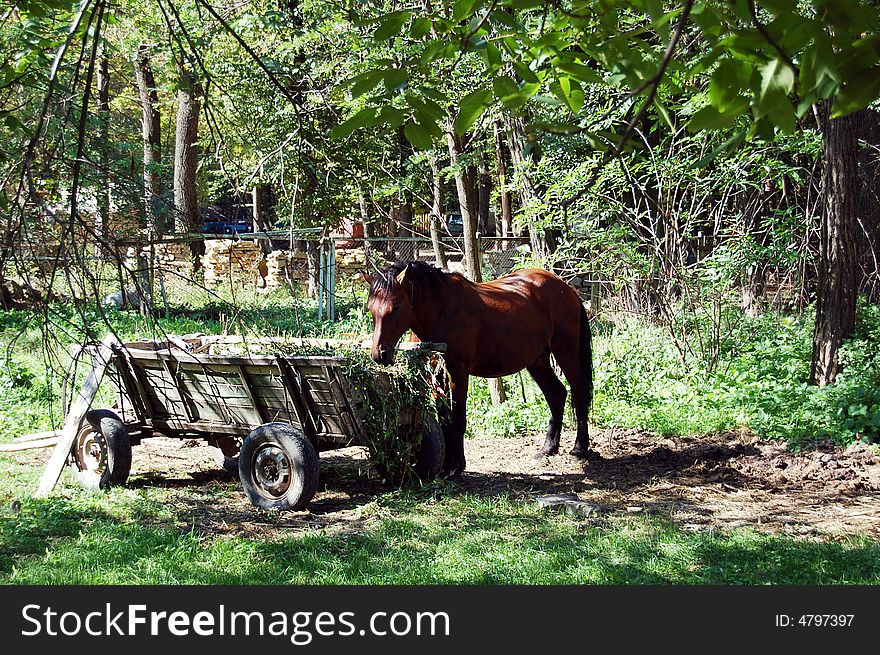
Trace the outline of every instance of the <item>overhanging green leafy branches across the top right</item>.
{"type": "MultiPolygon", "coordinates": [[[[379,17],[374,38],[418,45],[405,70],[407,88],[420,91],[413,72],[424,76],[454,67],[462,53],[479,55],[485,81],[460,103],[459,134],[493,103],[518,111],[531,99],[567,109],[575,129],[594,129],[582,110],[592,87],[604,85],[624,103],[641,100],[670,125],[669,103],[696,86],[685,113],[691,130],[727,127],[748,112],[751,133],[766,137],[794,131],[823,100],[834,98],[832,115],[844,115],[880,95],[878,20],[877,7],[859,0],[475,0],[432,3],[428,12],[395,8],[379,17]]],[[[369,75],[361,79],[372,84],[361,84],[361,93],[381,79],[369,75]]],[[[390,103],[397,91],[386,86],[375,97],[390,103]]]]}

